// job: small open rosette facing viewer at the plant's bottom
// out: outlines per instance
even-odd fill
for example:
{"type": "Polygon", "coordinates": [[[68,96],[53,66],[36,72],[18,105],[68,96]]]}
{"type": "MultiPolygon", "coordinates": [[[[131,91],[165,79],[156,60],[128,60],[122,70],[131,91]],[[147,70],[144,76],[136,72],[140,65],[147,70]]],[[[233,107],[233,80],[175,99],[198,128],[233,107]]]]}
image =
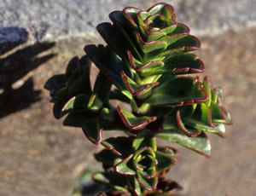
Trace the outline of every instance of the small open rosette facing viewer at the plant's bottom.
{"type": "Polygon", "coordinates": [[[135,138],[109,138],[102,141],[102,145],[107,149],[97,153],[96,159],[106,171],[97,173],[94,179],[136,195],[154,193],[161,172],[169,170],[177,160],[177,151],[157,147],[154,135],[148,130],[135,138]],[[131,186],[127,186],[129,184],[131,186]]]}

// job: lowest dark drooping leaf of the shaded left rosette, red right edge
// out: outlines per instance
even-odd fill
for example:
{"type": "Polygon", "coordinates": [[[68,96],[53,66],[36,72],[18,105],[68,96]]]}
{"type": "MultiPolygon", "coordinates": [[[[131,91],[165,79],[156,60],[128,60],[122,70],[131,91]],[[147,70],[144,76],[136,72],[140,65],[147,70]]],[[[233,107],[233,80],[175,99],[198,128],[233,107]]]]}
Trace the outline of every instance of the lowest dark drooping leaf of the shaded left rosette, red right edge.
{"type": "Polygon", "coordinates": [[[82,125],[84,135],[96,145],[102,141],[102,128],[100,128],[99,118],[87,120],[82,125]]]}

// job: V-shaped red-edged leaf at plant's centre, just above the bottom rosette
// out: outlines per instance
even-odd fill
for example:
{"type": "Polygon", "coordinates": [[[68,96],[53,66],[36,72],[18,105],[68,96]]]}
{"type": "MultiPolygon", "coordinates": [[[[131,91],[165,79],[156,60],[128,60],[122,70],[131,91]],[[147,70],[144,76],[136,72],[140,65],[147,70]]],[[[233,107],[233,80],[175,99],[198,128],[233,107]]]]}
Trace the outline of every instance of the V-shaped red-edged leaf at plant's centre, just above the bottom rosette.
{"type": "Polygon", "coordinates": [[[119,117],[129,130],[142,130],[145,126],[156,120],[156,117],[136,117],[128,110],[117,107],[119,117]]]}

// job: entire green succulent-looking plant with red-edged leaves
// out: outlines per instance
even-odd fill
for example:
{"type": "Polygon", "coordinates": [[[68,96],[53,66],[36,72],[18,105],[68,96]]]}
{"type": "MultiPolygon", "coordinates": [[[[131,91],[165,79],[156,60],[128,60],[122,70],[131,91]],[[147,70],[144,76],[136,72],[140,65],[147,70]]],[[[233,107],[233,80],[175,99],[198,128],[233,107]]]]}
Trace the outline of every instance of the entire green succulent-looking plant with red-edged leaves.
{"type": "Polygon", "coordinates": [[[225,136],[230,113],[221,106],[222,89],[212,88],[205,66],[190,51],[200,49],[189,27],[177,23],[172,6],[155,4],[147,11],[125,8],[109,14],[113,23],[96,28],[107,46],[86,45],[86,55],[74,57],[65,74],[50,78],[55,118],[81,127],[84,135],[105,149],[96,153],[104,171],[93,176],[108,184],[101,195],[170,195],[179,188],[165,175],[177,161],[177,150],[156,138],[175,142],[210,156],[206,132],[225,136]],[[90,61],[100,72],[90,84],[90,61]],[[112,88],[115,86],[115,89],[112,88]],[[131,111],[109,100],[131,105],[131,111]],[[104,130],[126,136],[102,141],[104,130]]]}

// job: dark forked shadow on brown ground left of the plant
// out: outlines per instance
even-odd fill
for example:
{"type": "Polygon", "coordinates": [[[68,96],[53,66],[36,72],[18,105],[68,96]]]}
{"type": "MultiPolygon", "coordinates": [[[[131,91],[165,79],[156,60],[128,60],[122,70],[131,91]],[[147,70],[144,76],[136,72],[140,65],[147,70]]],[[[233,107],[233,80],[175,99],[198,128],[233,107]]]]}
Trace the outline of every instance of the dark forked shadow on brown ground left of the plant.
{"type": "Polygon", "coordinates": [[[53,58],[54,54],[40,57],[38,55],[51,49],[54,45],[55,43],[35,43],[0,59],[0,90],[2,91],[0,91],[0,118],[25,109],[40,100],[41,90],[33,89],[32,78],[24,81],[18,89],[13,89],[12,85],[26,76],[28,72],[53,58]]]}

